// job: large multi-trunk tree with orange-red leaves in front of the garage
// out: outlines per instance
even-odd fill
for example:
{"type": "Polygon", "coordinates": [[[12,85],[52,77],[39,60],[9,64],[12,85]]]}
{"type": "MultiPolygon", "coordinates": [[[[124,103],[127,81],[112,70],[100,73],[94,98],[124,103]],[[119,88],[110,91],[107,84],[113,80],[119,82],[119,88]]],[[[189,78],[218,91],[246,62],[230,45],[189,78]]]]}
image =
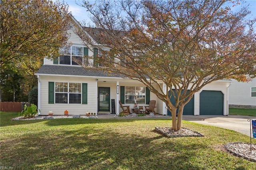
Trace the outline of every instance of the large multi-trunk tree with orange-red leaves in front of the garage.
{"type": "Polygon", "coordinates": [[[174,130],[181,128],[184,106],[202,87],[256,75],[256,20],[248,20],[250,11],[240,1],[120,0],[81,6],[92,14],[98,29],[91,29],[91,35],[98,39],[77,34],[86,44],[104,45],[97,62],[106,67],[90,69],[144,83],[166,103],[174,130]],[[112,50],[104,52],[105,47],[112,50]]]}

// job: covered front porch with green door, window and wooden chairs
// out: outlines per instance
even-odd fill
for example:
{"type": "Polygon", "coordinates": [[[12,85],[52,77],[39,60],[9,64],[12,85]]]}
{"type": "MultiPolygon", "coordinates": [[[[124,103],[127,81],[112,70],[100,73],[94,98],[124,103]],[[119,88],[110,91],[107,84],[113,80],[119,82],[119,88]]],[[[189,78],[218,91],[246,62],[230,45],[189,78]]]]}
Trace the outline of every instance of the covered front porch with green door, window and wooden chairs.
{"type": "Polygon", "coordinates": [[[102,77],[96,79],[96,85],[96,105],[99,115],[122,113],[124,111],[122,107],[128,109],[128,114],[149,114],[150,111],[146,109],[149,109],[150,101],[156,101],[155,114],[166,115],[165,103],[158,99],[154,93],[151,93],[143,83],[130,79],[102,77]],[[137,107],[135,103],[137,103],[137,107]]]}

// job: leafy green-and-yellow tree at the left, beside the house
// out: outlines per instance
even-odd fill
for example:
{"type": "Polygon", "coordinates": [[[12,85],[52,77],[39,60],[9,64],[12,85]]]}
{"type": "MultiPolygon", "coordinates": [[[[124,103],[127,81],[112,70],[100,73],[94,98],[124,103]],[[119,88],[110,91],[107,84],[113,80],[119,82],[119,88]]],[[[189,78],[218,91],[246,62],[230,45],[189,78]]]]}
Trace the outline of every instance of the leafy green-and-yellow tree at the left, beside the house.
{"type": "Polygon", "coordinates": [[[42,65],[42,59],[58,57],[59,48],[66,45],[68,25],[68,6],[64,3],[1,0],[1,73],[13,71],[24,76],[28,92],[37,84],[34,73],[42,65]]]}

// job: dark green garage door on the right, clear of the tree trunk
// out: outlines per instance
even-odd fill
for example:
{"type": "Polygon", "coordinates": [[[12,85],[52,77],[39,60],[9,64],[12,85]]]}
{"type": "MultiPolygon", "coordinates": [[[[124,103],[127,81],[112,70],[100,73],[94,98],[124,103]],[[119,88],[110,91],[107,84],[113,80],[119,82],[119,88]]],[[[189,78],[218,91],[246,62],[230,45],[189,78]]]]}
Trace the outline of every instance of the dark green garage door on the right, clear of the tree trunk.
{"type": "Polygon", "coordinates": [[[200,93],[200,115],[223,115],[224,95],[221,91],[200,93]]]}

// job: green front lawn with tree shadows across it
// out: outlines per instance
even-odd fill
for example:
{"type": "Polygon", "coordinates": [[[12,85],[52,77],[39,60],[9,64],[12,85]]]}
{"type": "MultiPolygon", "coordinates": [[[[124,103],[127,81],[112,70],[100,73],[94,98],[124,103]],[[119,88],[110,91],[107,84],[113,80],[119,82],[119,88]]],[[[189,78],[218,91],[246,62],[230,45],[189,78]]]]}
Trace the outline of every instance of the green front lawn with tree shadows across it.
{"type": "Polygon", "coordinates": [[[223,149],[228,142],[250,142],[250,137],[233,130],[183,121],[182,127],[205,136],[167,138],[154,130],[170,127],[167,119],[10,121],[17,115],[0,113],[0,166],[19,170],[256,169],[255,162],[223,149]]]}

